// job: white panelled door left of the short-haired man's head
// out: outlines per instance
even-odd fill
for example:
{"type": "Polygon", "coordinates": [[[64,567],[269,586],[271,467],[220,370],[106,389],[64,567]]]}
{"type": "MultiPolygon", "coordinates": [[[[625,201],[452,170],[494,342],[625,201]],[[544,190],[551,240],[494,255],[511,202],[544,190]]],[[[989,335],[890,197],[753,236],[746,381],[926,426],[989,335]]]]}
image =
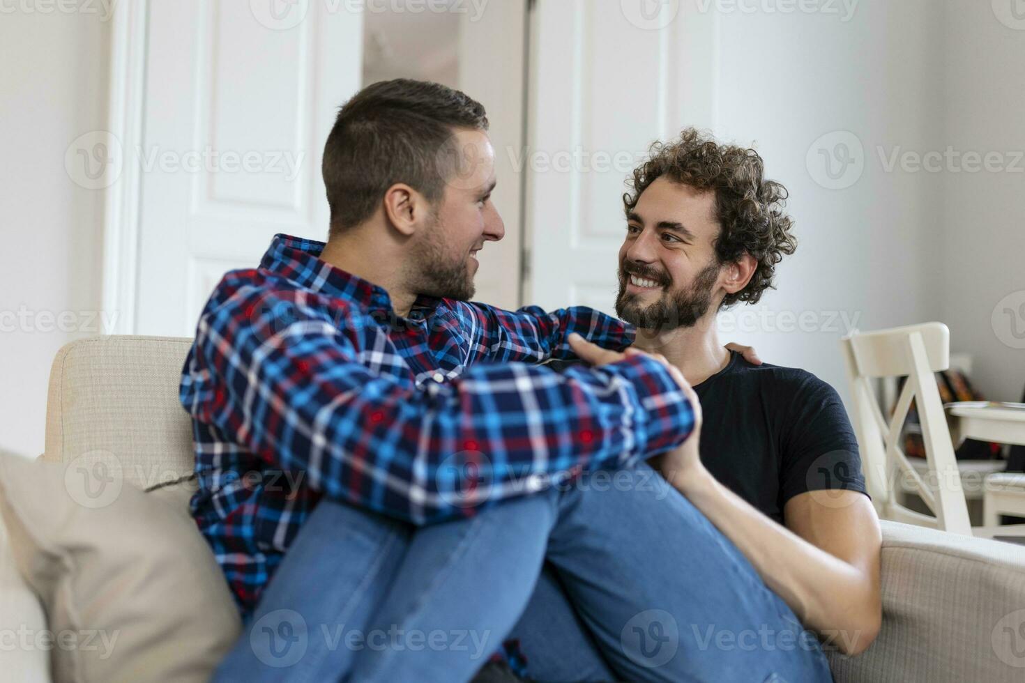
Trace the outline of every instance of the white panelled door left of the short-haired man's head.
{"type": "Polygon", "coordinates": [[[136,166],[107,288],[119,332],[192,336],[224,271],[255,266],[276,232],[326,239],[323,145],[361,85],[363,15],[345,7],[150,0],[134,20],[145,89],[127,96],[140,125],[123,154],[136,166]]]}

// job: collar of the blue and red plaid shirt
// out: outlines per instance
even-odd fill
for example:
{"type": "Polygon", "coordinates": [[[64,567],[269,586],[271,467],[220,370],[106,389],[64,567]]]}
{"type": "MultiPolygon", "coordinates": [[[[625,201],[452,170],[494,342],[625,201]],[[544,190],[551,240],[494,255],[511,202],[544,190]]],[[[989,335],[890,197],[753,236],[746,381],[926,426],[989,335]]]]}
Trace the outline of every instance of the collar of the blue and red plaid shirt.
{"type": "MultiPolygon", "coordinates": [[[[260,267],[280,273],[300,287],[332,297],[348,299],[368,310],[394,314],[387,290],[320,259],[324,243],[290,234],[276,234],[260,260],[260,267]]],[[[422,319],[440,300],[421,296],[410,318],[422,319]]]]}

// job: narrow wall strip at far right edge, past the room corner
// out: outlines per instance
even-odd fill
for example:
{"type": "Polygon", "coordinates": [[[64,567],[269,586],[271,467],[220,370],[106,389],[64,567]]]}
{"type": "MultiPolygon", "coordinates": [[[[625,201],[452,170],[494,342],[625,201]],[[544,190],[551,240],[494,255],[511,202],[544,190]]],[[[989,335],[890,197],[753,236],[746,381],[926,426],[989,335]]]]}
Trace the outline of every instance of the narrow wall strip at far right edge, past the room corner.
{"type": "MultiPolygon", "coordinates": [[[[950,2],[943,32],[944,126],[938,148],[1000,153],[1003,171],[947,173],[933,281],[951,345],[975,355],[994,400],[1025,386],[1025,22],[995,20],[990,3],[950,2]],[[1008,154],[1017,153],[1017,154],[1008,154]],[[1015,160],[1017,159],[1017,163],[1015,160]],[[1014,164],[1015,171],[1010,167],[1014,164]],[[1014,317],[994,307],[1012,295],[1014,317]],[[1014,329],[1012,326],[1016,326],[1014,329]],[[1017,333],[1017,337],[1015,336],[1017,333]],[[1012,344],[1012,345],[1009,345],[1012,344]]],[[[995,158],[994,158],[995,161],[995,158]]],[[[1000,166],[993,166],[999,168],[1000,166]]]]}

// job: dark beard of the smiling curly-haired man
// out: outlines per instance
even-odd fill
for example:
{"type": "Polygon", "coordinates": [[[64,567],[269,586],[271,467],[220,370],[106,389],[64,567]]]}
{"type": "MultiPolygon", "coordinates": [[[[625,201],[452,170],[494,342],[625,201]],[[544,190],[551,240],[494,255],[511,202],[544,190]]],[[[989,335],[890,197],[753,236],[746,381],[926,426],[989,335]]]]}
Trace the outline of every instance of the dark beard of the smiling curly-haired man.
{"type": "MultiPolygon", "coordinates": [[[[719,276],[719,263],[713,259],[698,273],[688,289],[675,294],[662,292],[658,301],[648,305],[640,302],[640,295],[626,292],[629,275],[620,269],[616,314],[630,325],[655,333],[694,327],[711,306],[711,288],[719,276]]],[[[651,278],[644,272],[636,274],[656,282],[664,280],[651,278]]]]}

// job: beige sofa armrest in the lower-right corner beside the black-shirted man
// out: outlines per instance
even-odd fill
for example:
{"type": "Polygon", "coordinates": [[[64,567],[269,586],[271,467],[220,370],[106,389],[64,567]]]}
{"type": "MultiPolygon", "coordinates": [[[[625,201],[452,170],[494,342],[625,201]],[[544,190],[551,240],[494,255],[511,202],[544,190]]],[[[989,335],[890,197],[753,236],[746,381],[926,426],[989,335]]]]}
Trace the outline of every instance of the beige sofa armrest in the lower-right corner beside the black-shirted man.
{"type": "Polygon", "coordinates": [[[883,628],[847,681],[1025,680],[1025,546],[883,521],[883,628]]]}

